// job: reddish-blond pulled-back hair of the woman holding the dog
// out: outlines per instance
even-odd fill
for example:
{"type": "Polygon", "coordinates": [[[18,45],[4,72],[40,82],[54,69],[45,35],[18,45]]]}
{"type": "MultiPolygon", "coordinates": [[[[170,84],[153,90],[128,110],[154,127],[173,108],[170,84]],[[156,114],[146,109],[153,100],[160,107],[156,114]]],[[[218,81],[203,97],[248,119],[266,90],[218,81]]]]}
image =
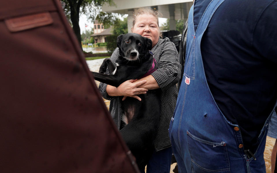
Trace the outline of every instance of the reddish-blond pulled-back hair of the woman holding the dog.
{"type": "MultiPolygon", "coordinates": [[[[135,26],[135,23],[137,22],[137,16],[142,15],[142,14],[150,14],[153,15],[157,19],[157,24],[158,24],[158,29],[159,29],[159,19],[158,17],[161,16],[161,13],[157,10],[153,10],[152,8],[138,8],[134,9],[133,11],[133,27],[135,26]]],[[[133,30],[132,27],[132,30],[133,30]]],[[[160,29],[159,29],[160,30],[160,29]]],[[[161,36],[161,32],[160,32],[161,36]]]]}

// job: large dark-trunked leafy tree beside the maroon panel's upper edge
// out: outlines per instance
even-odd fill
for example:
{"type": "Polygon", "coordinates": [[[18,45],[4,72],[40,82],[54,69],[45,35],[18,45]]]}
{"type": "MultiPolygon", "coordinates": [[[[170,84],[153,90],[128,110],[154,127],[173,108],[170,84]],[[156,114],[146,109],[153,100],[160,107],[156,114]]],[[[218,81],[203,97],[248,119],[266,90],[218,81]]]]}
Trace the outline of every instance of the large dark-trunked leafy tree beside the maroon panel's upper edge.
{"type": "MultiPolygon", "coordinates": [[[[72,25],[73,32],[77,36],[79,44],[81,46],[81,33],[79,26],[80,14],[85,14],[92,22],[96,19],[96,16],[100,13],[101,7],[104,3],[109,5],[115,5],[113,0],[63,0],[66,3],[64,12],[67,16],[70,24],[72,25]]],[[[104,12],[102,16],[110,17],[111,15],[104,12]]],[[[111,18],[111,17],[110,17],[111,18]]],[[[108,20],[108,19],[106,19],[108,20]]]]}

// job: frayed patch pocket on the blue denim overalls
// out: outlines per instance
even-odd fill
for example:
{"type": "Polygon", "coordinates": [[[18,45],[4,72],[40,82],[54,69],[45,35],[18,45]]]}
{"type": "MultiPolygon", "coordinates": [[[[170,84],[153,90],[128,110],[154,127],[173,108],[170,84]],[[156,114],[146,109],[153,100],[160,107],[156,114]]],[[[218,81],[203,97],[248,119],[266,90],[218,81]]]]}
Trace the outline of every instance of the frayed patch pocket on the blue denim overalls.
{"type": "Polygon", "coordinates": [[[210,142],[187,131],[187,142],[191,157],[192,172],[230,173],[230,164],[225,142],[210,142]]]}

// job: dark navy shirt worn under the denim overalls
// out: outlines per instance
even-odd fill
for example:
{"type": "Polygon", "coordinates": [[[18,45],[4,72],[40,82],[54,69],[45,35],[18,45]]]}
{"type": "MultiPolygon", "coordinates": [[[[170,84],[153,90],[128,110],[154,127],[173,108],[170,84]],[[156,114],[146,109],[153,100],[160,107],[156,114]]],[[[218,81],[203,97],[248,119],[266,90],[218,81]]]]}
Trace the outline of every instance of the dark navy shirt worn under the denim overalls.
{"type": "MultiPolygon", "coordinates": [[[[195,30],[210,2],[195,1],[195,30]]],[[[239,125],[244,149],[252,153],[277,99],[276,16],[276,0],[226,0],[201,41],[211,93],[226,118],[239,125]]]]}

